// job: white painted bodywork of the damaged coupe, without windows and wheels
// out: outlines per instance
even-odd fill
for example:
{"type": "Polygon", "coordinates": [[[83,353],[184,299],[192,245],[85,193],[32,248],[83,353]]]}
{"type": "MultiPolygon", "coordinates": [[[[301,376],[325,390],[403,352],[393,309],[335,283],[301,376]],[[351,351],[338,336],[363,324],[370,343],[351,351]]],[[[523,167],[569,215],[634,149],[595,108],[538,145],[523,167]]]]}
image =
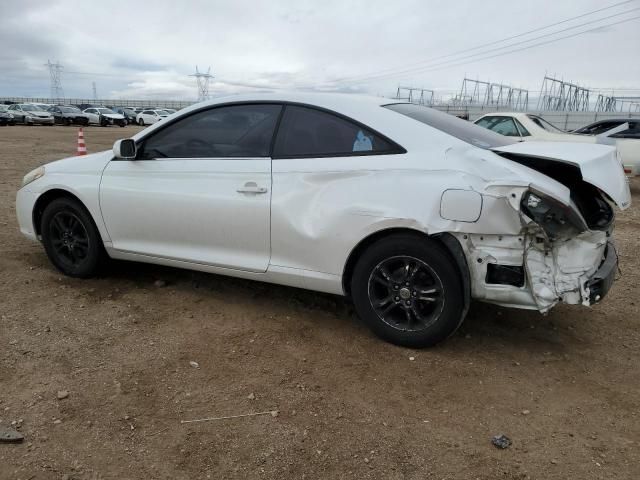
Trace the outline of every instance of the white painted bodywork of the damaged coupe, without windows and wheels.
{"type": "MultiPolygon", "coordinates": [[[[394,140],[404,154],[330,158],[116,160],[112,151],[48,164],[22,188],[21,230],[36,238],[31,213],[51,189],[77,196],[94,218],[110,256],[344,294],[350,254],[373,234],[409,229],[450,233],[472,279],[473,298],[548,311],[559,301],[588,303],[585,281],[598,268],[602,231],[536,242],[536,225],[520,211],[533,188],[572,205],[569,189],[525,165],[474,147],[382,108],[381,98],[318,94],[236,96],[242,101],[316,105],[361,121],[394,140]],[[251,183],[253,182],[253,183],[251,183]],[[260,193],[242,193],[250,187],[260,193]],[[525,265],[526,288],[485,282],[487,265],[525,265]]],[[[163,122],[164,124],[165,122],[163,122]]],[[[142,141],[155,124],[133,138],[142,141]]],[[[503,152],[578,166],[621,208],[630,202],[615,150],[604,145],[519,143],[503,152]]]]}

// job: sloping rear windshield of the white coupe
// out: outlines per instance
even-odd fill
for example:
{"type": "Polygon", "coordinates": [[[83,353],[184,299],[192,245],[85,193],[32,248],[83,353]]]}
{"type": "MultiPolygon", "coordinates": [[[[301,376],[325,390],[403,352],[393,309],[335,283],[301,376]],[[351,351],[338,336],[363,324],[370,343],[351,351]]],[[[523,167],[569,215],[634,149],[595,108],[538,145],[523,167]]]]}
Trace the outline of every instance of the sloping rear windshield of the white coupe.
{"type": "Polygon", "coordinates": [[[418,122],[456,137],[463,142],[486,150],[495,147],[504,147],[505,145],[511,145],[517,142],[517,140],[503,137],[491,130],[474,125],[467,120],[462,120],[461,118],[440,112],[433,108],[414,105],[412,103],[393,103],[384,105],[384,108],[406,115],[418,122]]]}

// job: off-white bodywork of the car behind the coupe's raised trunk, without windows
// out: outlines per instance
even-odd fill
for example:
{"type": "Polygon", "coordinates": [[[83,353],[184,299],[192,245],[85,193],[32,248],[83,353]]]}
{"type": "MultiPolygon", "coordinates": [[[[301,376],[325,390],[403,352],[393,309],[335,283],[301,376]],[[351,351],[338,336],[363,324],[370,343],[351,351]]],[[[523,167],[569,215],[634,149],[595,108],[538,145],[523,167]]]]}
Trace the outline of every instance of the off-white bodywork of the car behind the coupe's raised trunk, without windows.
{"type": "MultiPolygon", "coordinates": [[[[511,117],[518,120],[531,134],[530,136],[517,137],[524,142],[570,142],[570,143],[600,143],[615,146],[620,154],[625,172],[629,176],[640,175],[640,140],[632,138],[609,138],[617,132],[612,129],[600,135],[584,135],[578,133],[550,132],[541,128],[531,118],[522,112],[494,112],[483,115],[474,123],[478,123],[484,117],[511,117]]],[[[516,137],[512,137],[516,138],[516,137]]]]}

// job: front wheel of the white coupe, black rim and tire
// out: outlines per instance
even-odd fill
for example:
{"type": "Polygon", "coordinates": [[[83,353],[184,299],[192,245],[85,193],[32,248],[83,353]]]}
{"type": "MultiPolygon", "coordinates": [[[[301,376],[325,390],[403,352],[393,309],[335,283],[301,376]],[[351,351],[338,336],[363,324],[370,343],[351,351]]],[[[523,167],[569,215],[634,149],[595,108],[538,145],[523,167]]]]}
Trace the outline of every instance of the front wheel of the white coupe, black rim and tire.
{"type": "Polygon", "coordinates": [[[106,259],[91,215],[76,200],[57,198],[49,203],[42,213],[40,232],[49,260],[65,275],[92,277],[106,259]]]}

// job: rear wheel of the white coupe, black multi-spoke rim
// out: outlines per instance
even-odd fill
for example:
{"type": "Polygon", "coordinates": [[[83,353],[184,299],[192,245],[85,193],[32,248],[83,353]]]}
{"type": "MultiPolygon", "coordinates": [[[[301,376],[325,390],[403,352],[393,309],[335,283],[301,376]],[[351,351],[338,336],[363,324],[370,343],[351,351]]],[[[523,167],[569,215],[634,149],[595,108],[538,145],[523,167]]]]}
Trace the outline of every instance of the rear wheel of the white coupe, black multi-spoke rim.
{"type": "Polygon", "coordinates": [[[464,320],[458,267],[444,247],[414,234],[371,245],[351,278],[356,312],[380,338],[411,348],[433,346],[464,320]]]}

